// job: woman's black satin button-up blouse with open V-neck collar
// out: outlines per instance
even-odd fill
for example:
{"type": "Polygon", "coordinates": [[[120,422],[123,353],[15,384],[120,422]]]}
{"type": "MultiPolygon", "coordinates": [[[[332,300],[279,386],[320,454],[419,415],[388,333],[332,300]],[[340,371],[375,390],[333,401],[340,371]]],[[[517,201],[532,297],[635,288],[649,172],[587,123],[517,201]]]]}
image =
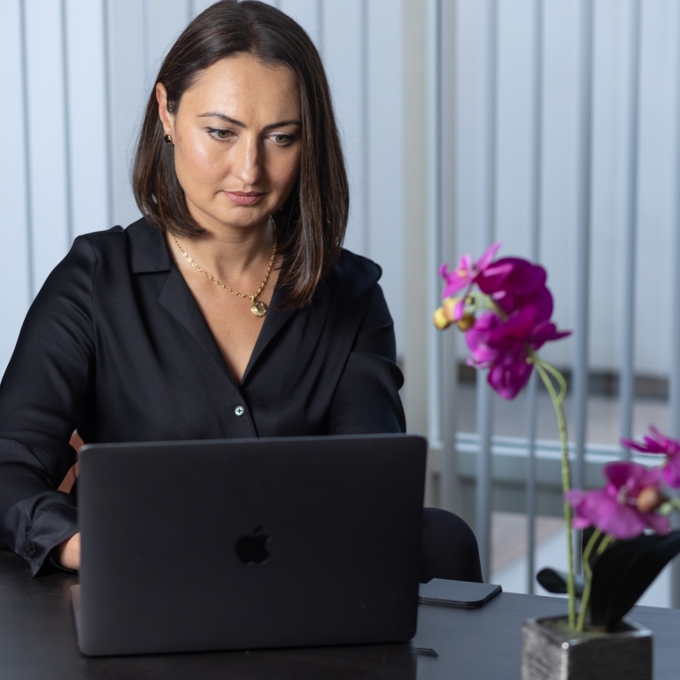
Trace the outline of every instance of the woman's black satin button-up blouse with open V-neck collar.
{"type": "Polygon", "coordinates": [[[80,236],[35,298],[0,383],[0,547],[35,575],[77,531],[68,444],[399,432],[380,267],[343,251],[302,310],[274,289],[236,383],[163,234],[80,236]]]}

